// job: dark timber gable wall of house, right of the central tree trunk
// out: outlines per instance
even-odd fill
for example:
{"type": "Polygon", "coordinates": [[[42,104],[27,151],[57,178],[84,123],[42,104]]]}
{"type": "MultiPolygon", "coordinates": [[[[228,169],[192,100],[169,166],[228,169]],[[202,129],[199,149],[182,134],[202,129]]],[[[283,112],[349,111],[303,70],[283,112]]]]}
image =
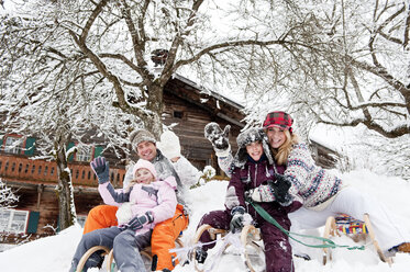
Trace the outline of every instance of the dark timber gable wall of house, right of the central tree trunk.
{"type": "MultiPolygon", "coordinates": [[[[206,94],[203,94],[206,95],[206,94]]],[[[210,122],[218,123],[222,129],[225,125],[231,125],[230,143],[233,151],[236,151],[236,136],[240,134],[242,126],[232,124],[229,121],[218,116],[218,113],[229,114],[232,117],[239,114],[237,109],[232,109],[221,102],[222,109],[217,109],[217,105],[209,106],[201,104],[201,94],[198,91],[189,88],[180,81],[170,81],[164,91],[165,109],[163,122],[166,125],[177,124],[173,131],[179,136],[181,144],[181,152],[189,161],[192,162],[199,170],[210,165],[218,174],[223,173],[219,170],[217,158],[211,143],[204,137],[204,126],[210,122]]],[[[203,98],[203,99],[210,99],[203,98]]],[[[239,118],[237,121],[242,120],[239,118]]]]}

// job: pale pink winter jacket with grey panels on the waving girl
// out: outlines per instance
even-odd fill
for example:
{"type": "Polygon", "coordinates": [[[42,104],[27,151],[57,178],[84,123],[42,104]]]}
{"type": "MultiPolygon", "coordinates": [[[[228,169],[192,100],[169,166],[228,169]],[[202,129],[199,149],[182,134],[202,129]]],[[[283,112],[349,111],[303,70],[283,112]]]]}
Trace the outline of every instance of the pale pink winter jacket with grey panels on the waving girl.
{"type": "Polygon", "coordinates": [[[175,194],[177,183],[174,177],[158,180],[151,184],[137,183],[129,192],[123,189],[114,190],[110,182],[99,184],[98,191],[106,204],[121,206],[125,202],[131,203],[132,217],[144,215],[151,211],[154,216],[152,224],[144,225],[138,231],[147,231],[157,223],[171,218],[177,206],[175,194]]]}

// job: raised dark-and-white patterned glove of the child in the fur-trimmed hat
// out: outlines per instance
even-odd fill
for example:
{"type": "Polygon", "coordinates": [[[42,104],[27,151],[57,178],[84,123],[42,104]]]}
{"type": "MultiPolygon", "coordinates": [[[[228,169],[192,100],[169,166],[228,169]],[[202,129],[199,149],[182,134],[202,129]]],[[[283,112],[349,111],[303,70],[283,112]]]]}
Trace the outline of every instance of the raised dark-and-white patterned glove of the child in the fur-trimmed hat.
{"type": "Polygon", "coordinates": [[[229,143],[230,129],[231,126],[226,125],[222,131],[214,122],[207,124],[204,127],[204,137],[211,141],[218,157],[226,157],[231,150],[231,145],[229,143]]]}

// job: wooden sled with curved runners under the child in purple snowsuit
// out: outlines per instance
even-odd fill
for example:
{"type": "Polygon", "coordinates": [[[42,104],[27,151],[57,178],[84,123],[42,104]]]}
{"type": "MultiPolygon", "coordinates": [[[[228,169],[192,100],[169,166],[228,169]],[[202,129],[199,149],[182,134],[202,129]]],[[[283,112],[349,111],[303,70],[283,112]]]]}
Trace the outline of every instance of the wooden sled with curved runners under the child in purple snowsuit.
{"type": "MultiPolygon", "coordinates": [[[[192,245],[196,245],[199,241],[204,231],[208,231],[210,234],[212,240],[215,240],[217,237],[224,237],[228,234],[228,230],[225,229],[217,229],[211,227],[210,225],[202,225],[198,228],[193,237],[192,245]]],[[[263,251],[263,247],[259,246],[257,241],[262,241],[259,229],[255,228],[252,225],[245,226],[241,233],[241,242],[244,247],[243,257],[245,260],[245,265],[251,272],[261,272],[262,270],[258,268],[265,268],[265,253],[263,251]]],[[[229,245],[226,246],[226,248],[228,247],[229,245]]],[[[204,269],[202,269],[197,262],[195,251],[190,256],[190,261],[193,262],[193,267],[197,272],[204,271],[204,269]]]]}

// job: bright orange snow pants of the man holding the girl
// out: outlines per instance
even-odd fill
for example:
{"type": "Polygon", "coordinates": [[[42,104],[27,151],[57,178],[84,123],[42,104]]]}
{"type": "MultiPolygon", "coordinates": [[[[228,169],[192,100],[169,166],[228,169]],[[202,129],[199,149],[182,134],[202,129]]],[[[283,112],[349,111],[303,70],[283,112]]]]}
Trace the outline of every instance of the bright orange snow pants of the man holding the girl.
{"type": "MultiPolygon", "coordinates": [[[[99,228],[117,226],[117,206],[99,205],[88,213],[84,234],[99,228]]],[[[169,250],[175,248],[175,240],[188,227],[188,216],[184,213],[184,206],[177,205],[174,217],[158,223],[153,230],[151,238],[151,251],[153,254],[153,271],[169,269],[173,270],[179,263],[176,253],[169,250]]]]}

